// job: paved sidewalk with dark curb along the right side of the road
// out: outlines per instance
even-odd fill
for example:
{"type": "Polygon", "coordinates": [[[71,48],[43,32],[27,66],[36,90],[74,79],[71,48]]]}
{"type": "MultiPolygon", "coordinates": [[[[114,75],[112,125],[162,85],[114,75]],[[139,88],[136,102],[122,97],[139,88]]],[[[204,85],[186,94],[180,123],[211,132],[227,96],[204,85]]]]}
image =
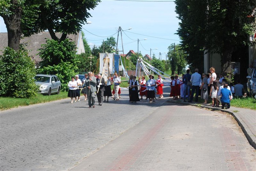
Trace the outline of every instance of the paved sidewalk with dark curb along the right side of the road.
{"type": "Polygon", "coordinates": [[[226,112],[231,114],[236,121],[238,122],[239,126],[241,126],[247,140],[256,149],[256,111],[252,109],[246,108],[238,108],[230,106],[229,109],[222,109],[221,107],[212,107],[212,104],[201,104],[201,103],[189,103],[183,102],[183,100],[169,100],[168,102],[173,103],[182,103],[182,104],[189,104],[194,106],[201,106],[204,108],[209,108],[212,110],[221,110],[222,112],[226,112]]]}

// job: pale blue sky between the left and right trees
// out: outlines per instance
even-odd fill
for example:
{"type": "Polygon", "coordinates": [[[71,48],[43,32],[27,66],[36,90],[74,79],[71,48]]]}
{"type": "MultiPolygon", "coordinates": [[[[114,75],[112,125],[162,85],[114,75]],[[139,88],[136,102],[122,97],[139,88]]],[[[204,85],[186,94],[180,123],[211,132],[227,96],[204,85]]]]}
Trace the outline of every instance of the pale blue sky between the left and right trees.
{"type": "MultiPolygon", "coordinates": [[[[179,20],[175,13],[175,3],[169,0],[101,0],[87,19],[91,24],[83,25],[82,31],[92,48],[100,46],[107,38],[113,36],[117,41],[118,28],[122,28],[124,54],[129,50],[138,51],[144,56],[155,54],[157,58],[166,59],[168,47],[180,43],[176,35],[179,20]],[[131,30],[127,30],[132,28],[131,30]],[[147,40],[144,40],[147,39],[147,40]],[[156,49],[157,48],[157,49],[156,49]],[[159,56],[159,54],[161,54],[159,56]]],[[[0,32],[7,32],[0,17],[0,32]]],[[[119,32],[119,54],[122,48],[119,32]]],[[[116,49],[116,47],[115,47],[116,49]]]]}

